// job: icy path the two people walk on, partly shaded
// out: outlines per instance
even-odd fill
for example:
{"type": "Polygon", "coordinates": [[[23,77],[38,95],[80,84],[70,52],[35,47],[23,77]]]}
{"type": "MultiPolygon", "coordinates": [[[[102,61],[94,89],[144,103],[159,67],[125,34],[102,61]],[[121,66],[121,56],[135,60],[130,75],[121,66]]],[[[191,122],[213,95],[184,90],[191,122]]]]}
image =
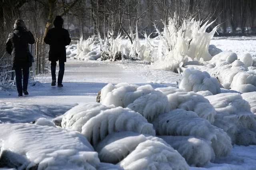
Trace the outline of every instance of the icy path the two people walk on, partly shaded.
{"type": "MultiPolygon", "coordinates": [[[[56,73],[58,72],[56,71],[56,73]]],[[[121,68],[117,64],[77,60],[67,61],[63,88],[50,85],[50,72],[37,77],[36,80],[41,83],[28,87],[29,96],[17,98],[17,92],[14,89],[10,92],[0,92],[0,101],[27,102],[38,105],[95,102],[98,91],[106,83],[146,83],[146,80],[134,74],[131,70],[121,68]]]]}

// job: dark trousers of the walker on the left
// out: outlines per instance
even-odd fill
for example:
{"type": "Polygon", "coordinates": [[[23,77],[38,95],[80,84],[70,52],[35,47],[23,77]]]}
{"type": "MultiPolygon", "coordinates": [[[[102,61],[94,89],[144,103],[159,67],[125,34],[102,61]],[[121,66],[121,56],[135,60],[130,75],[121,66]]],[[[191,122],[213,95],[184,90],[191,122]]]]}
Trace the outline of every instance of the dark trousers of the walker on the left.
{"type": "Polygon", "coordinates": [[[28,77],[29,77],[30,64],[15,64],[14,70],[16,74],[16,86],[18,93],[22,93],[22,90],[28,89],[28,77]],[[23,87],[22,87],[22,76],[23,76],[23,87]]]}

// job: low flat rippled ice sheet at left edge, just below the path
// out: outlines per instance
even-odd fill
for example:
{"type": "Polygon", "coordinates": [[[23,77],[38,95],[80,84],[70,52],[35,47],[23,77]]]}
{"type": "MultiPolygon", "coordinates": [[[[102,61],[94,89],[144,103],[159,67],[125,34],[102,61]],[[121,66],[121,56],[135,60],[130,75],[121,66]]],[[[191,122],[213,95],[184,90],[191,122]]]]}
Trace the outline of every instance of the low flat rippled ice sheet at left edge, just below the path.
{"type": "Polygon", "coordinates": [[[30,105],[0,101],[0,120],[3,123],[30,123],[40,117],[52,119],[75,105],[30,105]]]}

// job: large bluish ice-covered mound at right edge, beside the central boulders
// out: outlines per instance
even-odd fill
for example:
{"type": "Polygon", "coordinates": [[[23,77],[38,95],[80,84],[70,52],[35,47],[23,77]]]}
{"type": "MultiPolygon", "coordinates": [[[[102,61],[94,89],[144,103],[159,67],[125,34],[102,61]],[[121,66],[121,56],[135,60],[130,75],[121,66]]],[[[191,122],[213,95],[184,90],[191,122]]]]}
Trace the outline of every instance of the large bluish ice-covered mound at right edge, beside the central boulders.
{"type": "Polygon", "coordinates": [[[214,125],[223,129],[232,143],[237,145],[256,144],[256,120],[250,104],[238,93],[222,93],[206,96],[216,109],[214,125]]]}

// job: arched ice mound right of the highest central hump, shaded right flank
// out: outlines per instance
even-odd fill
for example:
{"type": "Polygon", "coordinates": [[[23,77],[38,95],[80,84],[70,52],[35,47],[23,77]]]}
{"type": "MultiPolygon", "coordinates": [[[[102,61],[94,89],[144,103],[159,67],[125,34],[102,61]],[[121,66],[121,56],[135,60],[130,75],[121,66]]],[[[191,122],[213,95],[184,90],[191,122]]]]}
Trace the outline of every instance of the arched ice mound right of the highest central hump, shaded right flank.
{"type": "Polygon", "coordinates": [[[216,111],[203,96],[173,87],[156,88],[156,90],[160,90],[167,96],[171,110],[179,108],[194,111],[199,117],[207,119],[210,123],[214,122],[216,111]]]}

